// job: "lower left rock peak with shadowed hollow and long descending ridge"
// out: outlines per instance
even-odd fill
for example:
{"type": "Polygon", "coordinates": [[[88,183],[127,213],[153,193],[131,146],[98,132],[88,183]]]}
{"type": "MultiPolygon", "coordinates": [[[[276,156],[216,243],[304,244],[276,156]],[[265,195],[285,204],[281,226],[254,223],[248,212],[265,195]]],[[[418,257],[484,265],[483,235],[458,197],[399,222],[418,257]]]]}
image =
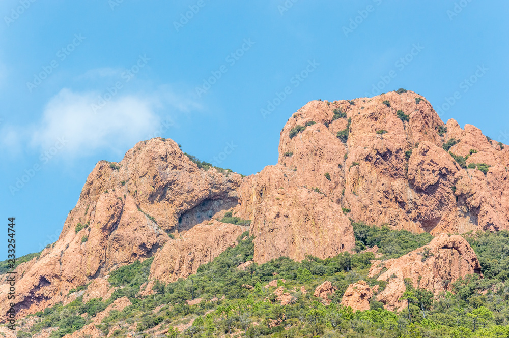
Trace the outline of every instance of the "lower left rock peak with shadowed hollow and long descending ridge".
{"type": "MultiPolygon", "coordinates": [[[[188,230],[236,205],[241,181],[236,173],[199,169],[169,139],[139,142],[119,163],[100,161],[54,247],[24,263],[16,283],[18,315],[44,309],[72,288],[152,256],[170,240],[167,232],[188,230]]],[[[6,291],[0,285],[4,314],[6,291]]]]}

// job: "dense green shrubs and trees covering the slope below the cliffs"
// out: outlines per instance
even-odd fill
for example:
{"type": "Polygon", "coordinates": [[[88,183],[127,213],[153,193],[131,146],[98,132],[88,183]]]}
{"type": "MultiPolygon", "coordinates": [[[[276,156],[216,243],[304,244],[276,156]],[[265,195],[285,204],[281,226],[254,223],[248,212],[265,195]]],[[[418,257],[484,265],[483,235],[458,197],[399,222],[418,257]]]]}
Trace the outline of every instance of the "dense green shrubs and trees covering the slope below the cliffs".
{"type": "Polygon", "coordinates": [[[79,297],[66,306],[55,305],[37,313],[34,316],[37,323],[30,332],[20,331],[18,336],[28,337],[46,327],[59,327],[51,337],[62,337],[90,322],[95,314],[122,296],[128,297],[132,305],[123,311],[113,310],[97,325],[105,334],[125,336],[127,327],[137,323],[138,337],[155,336],[150,329],[159,324],[158,330],[169,329],[166,337],[509,336],[509,294],[505,286],[509,279],[508,231],[465,234],[483,267],[484,279],[467,276],[454,283],[453,293],[438,296],[406,283],[404,297],[410,303],[409,311],[387,311],[382,303],[372,300],[371,310],[355,313],[340,304],[350,283],[363,279],[371,287],[376,284],[385,287],[384,282],[367,278],[374,254],[362,252],[363,249],[377,245],[383,259],[395,258],[427,244],[432,237],[361,223],[354,224],[354,233],[356,254],[342,253],[325,260],[307,256],[300,263],[280,257],[265,264],[253,263],[243,271],[237,266],[251,260],[254,254],[253,238],[241,239],[247,236],[246,232],[239,236],[239,245],[202,265],[195,275],[169,284],[156,282],[155,294],[145,298],[139,297],[138,292],[148,280],[152,260],[135,262],[110,274],[111,285],[122,287],[111,299],[94,299],[83,304],[79,297]],[[264,287],[274,279],[295,297],[292,304],[280,305],[273,294],[276,287],[264,287]],[[338,288],[329,305],[313,296],[315,287],[325,280],[338,288]],[[308,291],[306,294],[300,291],[301,286],[308,291]],[[196,298],[203,301],[187,304],[187,300],[196,298]],[[173,328],[191,320],[192,325],[183,332],[173,328]]]}

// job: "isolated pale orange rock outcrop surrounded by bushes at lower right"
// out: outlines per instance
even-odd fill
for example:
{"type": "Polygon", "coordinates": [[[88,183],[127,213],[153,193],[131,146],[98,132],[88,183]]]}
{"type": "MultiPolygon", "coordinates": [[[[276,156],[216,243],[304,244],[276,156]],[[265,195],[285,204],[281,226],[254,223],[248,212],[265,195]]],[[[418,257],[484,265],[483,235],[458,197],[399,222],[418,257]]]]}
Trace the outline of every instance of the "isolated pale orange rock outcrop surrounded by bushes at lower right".
{"type": "Polygon", "coordinates": [[[473,273],[482,276],[477,256],[468,242],[459,235],[441,234],[428,245],[400,258],[374,261],[369,277],[380,274],[378,280],[387,282],[377,300],[384,303],[386,309],[393,310],[406,306],[406,301],[400,300],[406,291],[406,278],[412,281],[413,287],[438,294],[450,291],[456,280],[473,273]]]}

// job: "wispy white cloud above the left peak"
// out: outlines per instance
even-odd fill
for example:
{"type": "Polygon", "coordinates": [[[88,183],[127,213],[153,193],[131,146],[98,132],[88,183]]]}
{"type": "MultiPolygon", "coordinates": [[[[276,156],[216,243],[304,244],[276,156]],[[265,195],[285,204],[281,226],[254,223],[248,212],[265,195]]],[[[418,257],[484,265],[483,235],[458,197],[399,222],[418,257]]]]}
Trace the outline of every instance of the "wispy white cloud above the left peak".
{"type": "Polygon", "coordinates": [[[31,134],[30,144],[44,150],[54,146],[60,138],[65,141],[60,152],[69,157],[97,150],[118,151],[159,130],[161,113],[175,117],[199,108],[163,87],[148,96],[117,95],[94,112],[92,105],[97,105],[99,95],[62,89],[44,108],[41,121],[25,129],[31,134]]]}

